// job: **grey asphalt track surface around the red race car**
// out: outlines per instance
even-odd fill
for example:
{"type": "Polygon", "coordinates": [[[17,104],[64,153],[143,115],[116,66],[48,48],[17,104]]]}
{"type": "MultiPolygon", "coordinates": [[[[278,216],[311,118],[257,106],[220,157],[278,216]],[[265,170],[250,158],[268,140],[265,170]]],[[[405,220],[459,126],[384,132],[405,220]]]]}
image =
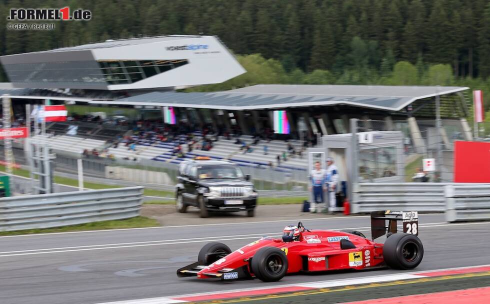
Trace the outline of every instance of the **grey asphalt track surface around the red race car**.
{"type": "MultiPolygon", "coordinates": [[[[490,222],[447,224],[443,214],[419,217],[419,237],[425,253],[416,270],[488,264],[490,222]]],[[[368,216],[303,219],[303,222],[312,229],[355,228],[369,234],[368,216]]],[[[233,250],[261,235],[277,235],[289,223],[295,222],[277,220],[0,237],[0,303],[91,304],[399,272],[381,269],[296,274],[275,283],[256,279],[216,282],[175,275],[176,268],[196,259],[206,241],[220,240],[233,250]]]]}

